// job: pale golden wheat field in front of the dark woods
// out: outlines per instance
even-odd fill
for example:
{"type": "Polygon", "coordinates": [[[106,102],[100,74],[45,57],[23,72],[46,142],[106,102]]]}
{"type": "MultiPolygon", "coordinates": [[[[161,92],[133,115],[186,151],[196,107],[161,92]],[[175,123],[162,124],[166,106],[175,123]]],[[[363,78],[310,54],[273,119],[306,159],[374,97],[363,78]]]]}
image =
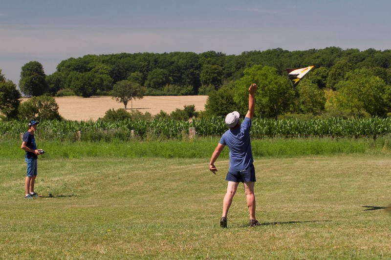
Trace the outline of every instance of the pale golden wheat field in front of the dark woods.
{"type": "MultiPolygon", "coordinates": [[[[131,108],[142,113],[149,112],[156,115],[163,110],[170,114],[175,109],[183,109],[185,105],[195,105],[196,111],[202,111],[208,96],[146,96],[141,100],[129,101],[128,111],[131,108]]],[[[111,97],[56,97],[60,115],[67,120],[97,120],[103,118],[109,109],[125,108],[123,103],[118,103],[111,97]]],[[[26,99],[23,99],[26,100],[26,99]]]]}

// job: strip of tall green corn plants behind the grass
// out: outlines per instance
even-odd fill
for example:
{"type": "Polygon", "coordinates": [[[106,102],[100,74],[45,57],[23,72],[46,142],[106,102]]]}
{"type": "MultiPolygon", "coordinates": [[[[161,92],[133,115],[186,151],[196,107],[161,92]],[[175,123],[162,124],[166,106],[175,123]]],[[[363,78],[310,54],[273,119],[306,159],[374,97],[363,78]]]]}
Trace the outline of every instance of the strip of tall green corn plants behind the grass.
{"type": "MultiPolygon", "coordinates": [[[[196,136],[213,137],[223,134],[227,127],[223,118],[178,120],[121,120],[98,121],[42,121],[36,135],[40,140],[151,140],[182,139],[190,127],[196,136]]],[[[0,121],[1,139],[20,139],[27,130],[25,121],[0,121]]],[[[254,119],[253,139],[263,138],[373,138],[391,133],[391,118],[272,120],[254,119]]]]}

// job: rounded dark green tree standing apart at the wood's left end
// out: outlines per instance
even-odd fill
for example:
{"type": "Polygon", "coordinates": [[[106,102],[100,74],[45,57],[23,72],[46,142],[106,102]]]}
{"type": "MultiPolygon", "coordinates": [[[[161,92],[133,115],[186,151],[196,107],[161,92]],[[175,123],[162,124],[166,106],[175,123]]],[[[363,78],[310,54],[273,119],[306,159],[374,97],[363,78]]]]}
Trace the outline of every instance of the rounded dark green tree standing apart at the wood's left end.
{"type": "Polygon", "coordinates": [[[26,96],[41,96],[46,93],[46,75],[40,62],[30,61],[22,66],[19,88],[26,96]]]}

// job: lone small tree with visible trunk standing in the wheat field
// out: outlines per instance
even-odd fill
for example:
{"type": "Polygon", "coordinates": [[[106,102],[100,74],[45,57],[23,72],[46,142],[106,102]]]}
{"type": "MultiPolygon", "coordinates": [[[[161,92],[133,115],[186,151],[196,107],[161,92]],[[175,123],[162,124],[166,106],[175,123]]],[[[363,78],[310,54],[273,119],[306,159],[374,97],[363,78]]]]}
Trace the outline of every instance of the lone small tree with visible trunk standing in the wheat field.
{"type": "Polygon", "coordinates": [[[117,102],[124,103],[125,109],[130,100],[131,109],[133,109],[133,99],[141,100],[144,98],[145,89],[140,84],[132,82],[130,80],[121,80],[115,83],[112,90],[113,99],[117,102]]]}

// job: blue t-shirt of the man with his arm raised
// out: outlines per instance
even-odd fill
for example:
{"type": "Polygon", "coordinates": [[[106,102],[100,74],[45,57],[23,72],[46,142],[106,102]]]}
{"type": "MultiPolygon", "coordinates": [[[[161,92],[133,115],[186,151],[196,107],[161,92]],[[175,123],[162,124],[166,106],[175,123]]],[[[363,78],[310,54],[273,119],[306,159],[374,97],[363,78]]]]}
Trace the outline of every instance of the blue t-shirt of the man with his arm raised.
{"type": "Polygon", "coordinates": [[[250,143],[251,119],[244,118],[240,127],[227,130],[219,143],[227,145],[229,149],[229,170],[239,172],[250,166],[253,160],[250,143]]]}

